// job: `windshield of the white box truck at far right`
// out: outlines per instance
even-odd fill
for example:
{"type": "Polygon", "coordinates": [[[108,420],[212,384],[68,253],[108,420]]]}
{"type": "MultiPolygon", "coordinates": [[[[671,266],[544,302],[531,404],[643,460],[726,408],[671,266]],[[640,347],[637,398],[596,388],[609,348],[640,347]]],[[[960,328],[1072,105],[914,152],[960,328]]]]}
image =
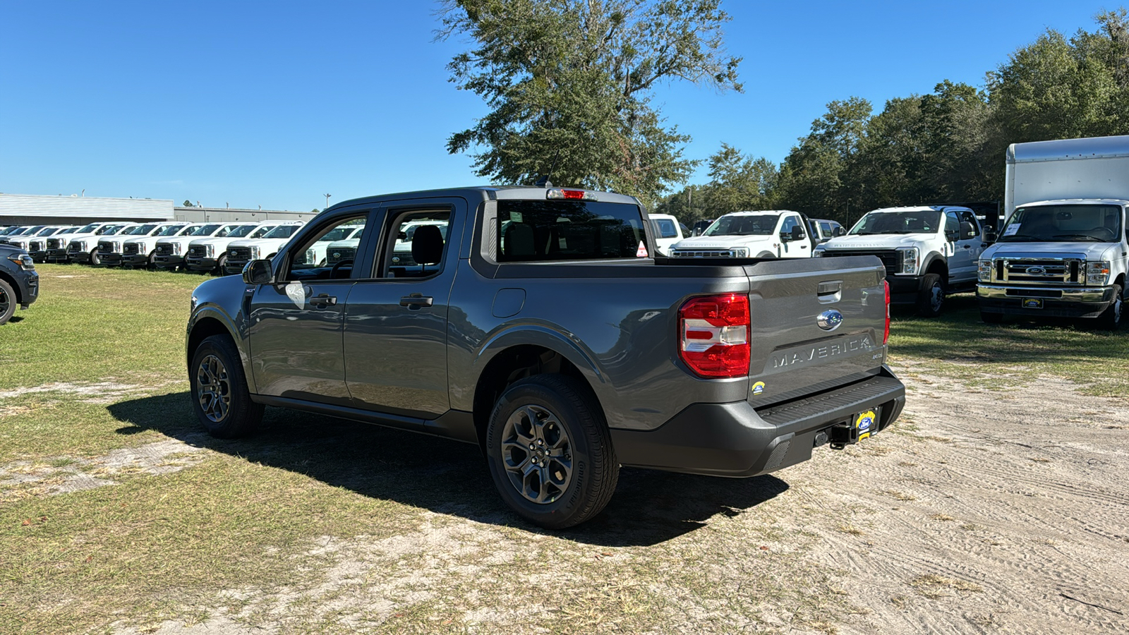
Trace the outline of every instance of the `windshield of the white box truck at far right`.
{"type": "Polygon", "coordinates": [[[1048,205],[1016,208],[1007,219],[999,242],[1112,243],[1120,237],[1120,206],[1048,205]]]}

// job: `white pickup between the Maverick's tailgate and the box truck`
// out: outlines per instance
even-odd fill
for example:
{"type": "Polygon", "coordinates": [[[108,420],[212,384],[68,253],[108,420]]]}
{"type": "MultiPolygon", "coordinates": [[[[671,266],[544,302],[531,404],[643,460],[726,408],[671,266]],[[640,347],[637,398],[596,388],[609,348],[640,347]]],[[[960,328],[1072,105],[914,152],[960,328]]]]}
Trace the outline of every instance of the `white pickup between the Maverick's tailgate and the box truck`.
{"type": "Polygon", "coordinates": [[[891,304],[912,304],[919,315],[936,318],[946,295],[975,288],[986,237],[969,207],[891,207],[868,211],[846,236],[821,243],[814,255],[878,256],[891,304]]]}

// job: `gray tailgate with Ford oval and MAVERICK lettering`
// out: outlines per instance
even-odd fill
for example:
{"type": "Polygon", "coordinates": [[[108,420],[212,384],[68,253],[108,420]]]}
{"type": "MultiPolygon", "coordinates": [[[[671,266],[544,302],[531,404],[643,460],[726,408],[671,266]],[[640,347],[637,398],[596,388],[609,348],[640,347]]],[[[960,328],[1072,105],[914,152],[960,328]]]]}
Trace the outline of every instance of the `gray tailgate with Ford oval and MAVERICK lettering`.
{"type": "Polygon", "coordinates": [[[746,266],[745,272],[751,405],[761,408],[878,373],[886,358],[881,260],[771,260],[746,266]]]}

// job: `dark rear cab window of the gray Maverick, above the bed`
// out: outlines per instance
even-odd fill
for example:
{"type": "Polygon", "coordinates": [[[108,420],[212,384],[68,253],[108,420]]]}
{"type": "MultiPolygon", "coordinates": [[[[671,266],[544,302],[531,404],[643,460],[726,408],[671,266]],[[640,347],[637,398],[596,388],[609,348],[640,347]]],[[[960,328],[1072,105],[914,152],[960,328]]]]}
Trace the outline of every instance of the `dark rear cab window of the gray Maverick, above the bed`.
{"type": "Polygon", "coordinates": [[[498,201],[498,262],[637,258],[646,244],[638,206],[598,201],[498,201]]]}

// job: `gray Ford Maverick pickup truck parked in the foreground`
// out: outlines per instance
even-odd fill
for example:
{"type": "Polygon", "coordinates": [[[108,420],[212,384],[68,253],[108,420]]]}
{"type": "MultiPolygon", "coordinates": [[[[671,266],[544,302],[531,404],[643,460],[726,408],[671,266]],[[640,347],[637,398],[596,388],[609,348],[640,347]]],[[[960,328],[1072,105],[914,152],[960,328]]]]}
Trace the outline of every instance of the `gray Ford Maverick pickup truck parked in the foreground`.
{"type": "Polygon", "coordinates": [[[476,444],[501,498],[552,529],[599,513],[621,466],[752,477],[898,418],[878,259],[667,260],[654,244],[639,202],[606,192],[339,203],[193,292],[193,407],[220,437],[280,406],[476,444]],[[355,259],[306,263],[357,225],[355,259]]]}

